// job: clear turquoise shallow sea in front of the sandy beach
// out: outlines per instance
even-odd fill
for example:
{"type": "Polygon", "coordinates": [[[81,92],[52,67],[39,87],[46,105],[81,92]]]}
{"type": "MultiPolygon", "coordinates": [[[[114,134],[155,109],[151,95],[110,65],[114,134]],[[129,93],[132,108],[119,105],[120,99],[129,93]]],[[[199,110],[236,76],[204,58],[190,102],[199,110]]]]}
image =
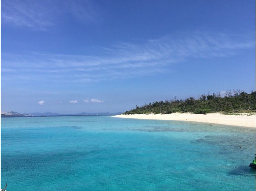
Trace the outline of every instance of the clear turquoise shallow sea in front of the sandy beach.
{"type": "Polygon", "coordinates": [[[255,190],[255,128],[69,116],[1,118],[12,190],[255,190]],[[241,146],[241,148],[239,148],[241,146]]]}

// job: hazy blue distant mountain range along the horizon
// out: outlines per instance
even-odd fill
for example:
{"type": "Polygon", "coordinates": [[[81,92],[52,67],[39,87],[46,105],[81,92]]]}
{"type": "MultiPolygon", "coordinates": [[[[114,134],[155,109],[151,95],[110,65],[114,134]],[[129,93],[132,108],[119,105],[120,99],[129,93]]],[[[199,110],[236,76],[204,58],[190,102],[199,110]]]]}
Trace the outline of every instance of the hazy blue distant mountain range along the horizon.
{"type": "Polygon", "coordinates": [[[52,113],[52,112],[45,112],[45,113],[18,113],[15,111],[9,111],[9,112],[1,112],[1,116],[61,116],[61,115],[70,115],[70,116],[75,116],[75,115],[119,115],[122,114],[121,112],[117,113],[76,113],[76,114],[60,114],[60,113],[52,113]]]}

